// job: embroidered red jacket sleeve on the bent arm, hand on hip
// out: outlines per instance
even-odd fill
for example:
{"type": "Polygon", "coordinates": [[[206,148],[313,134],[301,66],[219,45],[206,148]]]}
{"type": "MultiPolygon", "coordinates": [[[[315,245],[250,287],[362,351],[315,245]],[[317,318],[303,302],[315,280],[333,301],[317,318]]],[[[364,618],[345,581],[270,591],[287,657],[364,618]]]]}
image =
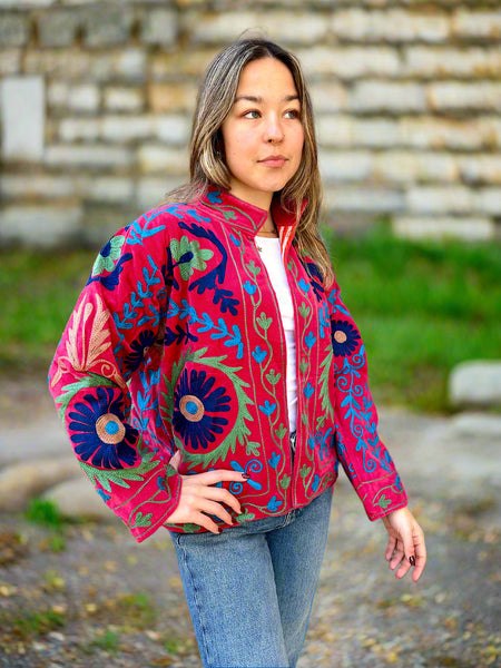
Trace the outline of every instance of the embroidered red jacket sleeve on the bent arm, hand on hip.
{"type": "Polygon", "coordinates": [[[158,362],[168,301],[164,239],[165,225],[144,216],[108,242],[49,371],[81,468],[138,542],[174,512],[180,492],[161,420],[151,429],[145,416],[158,406],[155,355],[158,362]],[[130,383],[140,386],[134,411],[130,383]]]}

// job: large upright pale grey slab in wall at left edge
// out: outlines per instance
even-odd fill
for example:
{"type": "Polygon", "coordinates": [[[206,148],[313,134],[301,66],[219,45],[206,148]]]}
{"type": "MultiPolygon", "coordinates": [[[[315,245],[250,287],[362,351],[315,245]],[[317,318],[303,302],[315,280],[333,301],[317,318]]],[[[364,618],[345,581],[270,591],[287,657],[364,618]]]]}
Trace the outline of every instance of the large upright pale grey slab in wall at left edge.
{"type": "Polygon", "coordinates": [[[45,86],[41,77],[7,77],[0,82],[2,159],[37,161],[43,155],[45,86]]]}

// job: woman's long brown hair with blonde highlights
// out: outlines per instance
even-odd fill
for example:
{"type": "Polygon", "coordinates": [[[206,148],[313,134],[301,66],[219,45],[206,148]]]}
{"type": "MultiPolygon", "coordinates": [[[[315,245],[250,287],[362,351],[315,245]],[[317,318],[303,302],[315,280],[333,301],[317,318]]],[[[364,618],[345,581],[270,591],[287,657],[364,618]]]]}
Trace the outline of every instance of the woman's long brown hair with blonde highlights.
{"type": "Polygon", "coordinates": [[[310,255],[320,271],[323,283],[333,279],[331,259],[318,233],[322,186],[313,119],[313,107],[303,70],[297,58],[278,45],[262,37],[238,39],[223,49],[208,66],[198,91],[193,118],[189,181],[168,193],[165,203],[194,202],[210,186],[229,189],[230,174],[225,163],[220,127],[229,114],[242,70],[253,60],[276,58],[291,71],[301,105],[304,128],[303,155],[299,167],[289,181],[274,197],[296,214],[298,222],[294,246],[301,255],[310,255]],[[308,204],[301,215],[303,199],[308,204]]]}

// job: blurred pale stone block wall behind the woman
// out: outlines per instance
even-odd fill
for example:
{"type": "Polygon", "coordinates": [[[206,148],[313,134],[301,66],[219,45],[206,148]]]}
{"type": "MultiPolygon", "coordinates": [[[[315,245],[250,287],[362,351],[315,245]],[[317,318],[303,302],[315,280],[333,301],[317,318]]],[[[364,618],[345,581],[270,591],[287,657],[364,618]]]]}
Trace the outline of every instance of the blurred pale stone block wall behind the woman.
{"type": "Polygon", "coordinates": [[[304,63],[330,224],[497,236],[499,0],[0,0],[0,240],[100,244],[154,207],[204,67],[248,28],[304,63]]]}

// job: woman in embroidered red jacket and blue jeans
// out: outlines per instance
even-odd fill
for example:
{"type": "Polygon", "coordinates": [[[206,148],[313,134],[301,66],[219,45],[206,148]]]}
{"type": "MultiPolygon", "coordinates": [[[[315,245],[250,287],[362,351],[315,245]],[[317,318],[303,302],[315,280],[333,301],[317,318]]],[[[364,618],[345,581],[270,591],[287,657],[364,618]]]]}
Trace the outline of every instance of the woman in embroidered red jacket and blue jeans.
{"type": "Polygon", "coordinates": [[[320,204],[297,60],[229,45],[200,88],[189,184],[105,246],[51,367],[105,502],[138,541],[170,530],[204,666],[296,665],[340,461],[396,577],[425,564],[320,204]]]}

